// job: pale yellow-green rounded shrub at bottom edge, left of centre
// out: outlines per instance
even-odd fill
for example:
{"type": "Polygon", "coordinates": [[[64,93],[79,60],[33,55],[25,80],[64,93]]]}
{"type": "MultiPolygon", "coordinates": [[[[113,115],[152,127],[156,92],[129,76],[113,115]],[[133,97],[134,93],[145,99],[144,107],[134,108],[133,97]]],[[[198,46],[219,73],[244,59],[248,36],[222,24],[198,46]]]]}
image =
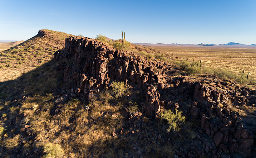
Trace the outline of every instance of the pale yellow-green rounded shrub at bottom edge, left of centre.
{"type": "Polygon", "coordinates": [[[44,145],[44,158],[52,158],[52,157],[62,157],[64,155],[64,151],[62,147],[58,144],[47,143],[44,145]]]}

